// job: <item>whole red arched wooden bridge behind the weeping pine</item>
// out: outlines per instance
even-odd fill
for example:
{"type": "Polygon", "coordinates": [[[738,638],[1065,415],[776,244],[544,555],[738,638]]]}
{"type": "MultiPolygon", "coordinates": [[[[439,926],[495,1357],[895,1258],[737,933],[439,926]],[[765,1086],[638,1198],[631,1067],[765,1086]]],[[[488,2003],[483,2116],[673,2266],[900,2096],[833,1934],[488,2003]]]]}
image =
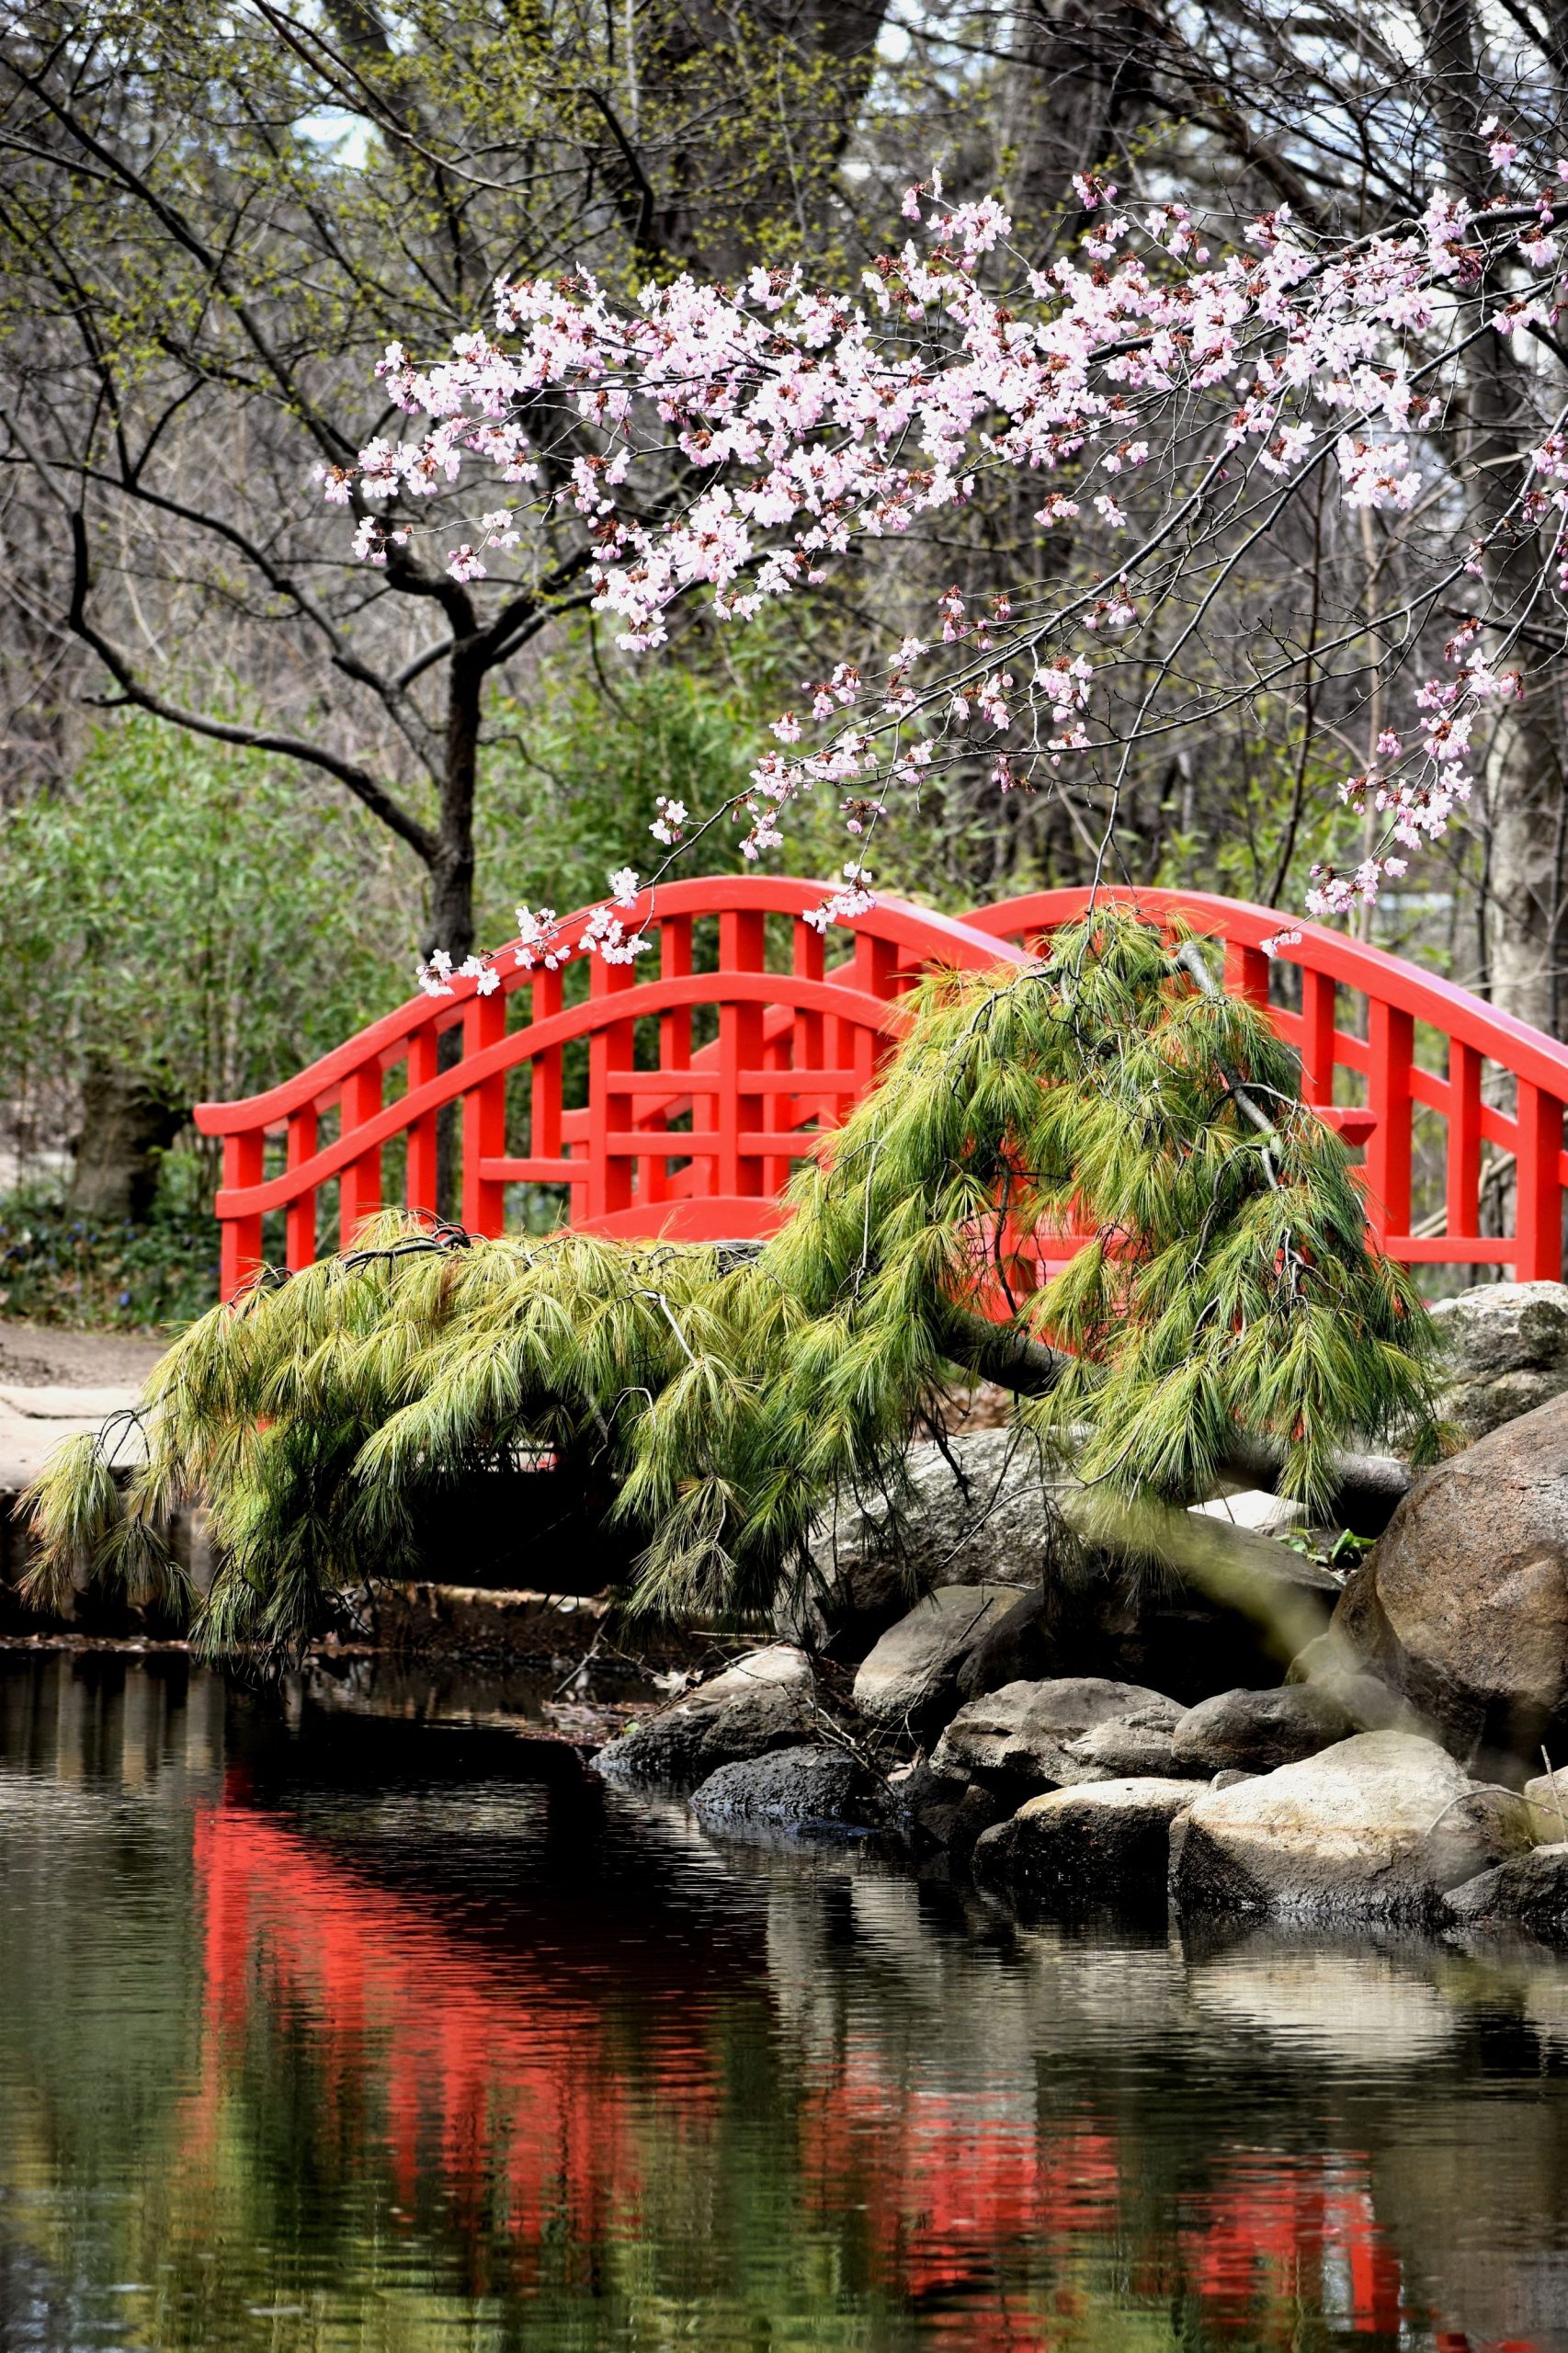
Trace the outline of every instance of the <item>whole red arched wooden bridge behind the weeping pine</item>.
{"type": "MultiPolygon", "coordinates": [[[[1363,1148],[1382,1249],[1561,1275],[1568,1047],[1321,925],[1203,892],[1111,896],[1224,944],[1227,986],[1269,1007],[1302,1054],[1307,1101],[1363,1148]],[[1290,944],[1267,955],[1281,929],[1290,944]]],[[[200,1104],[195,1125],[224,1136],[224,1294],[264,1245],[308,1266],[330,1235],[330,1188],[344,1247],[386,1202],[431,1209],[447,1104],[461,1106],[473,1233],[501,1233],[509,1186],[560,1188],[565,1219],[591,1233],[770,1233],[793,1162],[873,1082],[890,1005],[916,974],[1026,962],[1029,944],[1085,913],[1088,892],[1036,892],[963,922],[878,899],[826,941],[805,920],[819,904],[822,885],[770,875],[666,882],[622,911],[629,927],[647,922],[657,958],[570,955],[546,972],[504,955],[490,995],[459,979],[283,1087],[200,1104]]],[[[572,915],[558,946],[574,951],[591,915],[572,915]]],[[[1038,1245],[1038,1273],[1071,1247],[1038,1245]]]]}

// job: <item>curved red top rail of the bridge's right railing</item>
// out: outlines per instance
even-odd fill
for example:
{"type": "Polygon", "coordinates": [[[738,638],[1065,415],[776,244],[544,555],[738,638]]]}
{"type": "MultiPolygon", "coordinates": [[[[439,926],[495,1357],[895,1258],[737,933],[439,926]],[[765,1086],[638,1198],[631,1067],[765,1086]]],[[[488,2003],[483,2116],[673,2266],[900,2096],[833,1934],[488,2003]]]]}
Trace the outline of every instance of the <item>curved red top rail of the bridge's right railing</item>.
{"type": "Polygon", "coordinates": [[[1253,906],[1245,899],[1220,899],[1212,892],[1187,889],[1125,889],[1111,887],[1097,894],[1088,889],[1043,889],[1022,899],[998,899],[994,906],[975,908],[963,922],[972,932],[986,932],[996,941],[1022,944],[1043,932],[1055,932],[1062,922],[1078,922],[1090,904],[1116,904],[1137,908],[1144,915],[1182,915],[1194,932],[1220,934],[1231,948],[1262,953],[1264,944],[1285,939],[1276,951],[1281,965],[1300,965],[1304,972],[1321,972],[1326,979],[1354,988],[1377,1005],[1389,1005],[1415,1021],[1457,1038],[1488,1061],[1497,1061],[1516,1078],[1542,1087],[1559,1101],[1568,1101],[1568,1045],[1547,1038],[1544,1031],[1497,1012],[1486,998],[1422,972],[1420,965],[1370,948],[1342,932],[1330,932],[1321,922],[1297,922],[1278,908],[1253,906]]]}

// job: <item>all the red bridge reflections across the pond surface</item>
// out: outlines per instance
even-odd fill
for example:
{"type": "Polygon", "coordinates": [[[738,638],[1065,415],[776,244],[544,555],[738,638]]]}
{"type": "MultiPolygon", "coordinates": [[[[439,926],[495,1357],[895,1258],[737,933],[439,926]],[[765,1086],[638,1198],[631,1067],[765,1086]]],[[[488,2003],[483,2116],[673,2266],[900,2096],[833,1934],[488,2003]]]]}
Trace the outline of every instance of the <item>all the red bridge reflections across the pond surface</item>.
{"type": "MultiPolygon", "coordinates": [[[[603,1981],[574,1984],[570,1955],[499,1955],[436,1899],[386,1892],[233,1798],[198,1817],[195,1871],[210,2033],[188,2146],[212,2146],[224,2054],[264,2007],[308,2021],[330,2125],[379,2087],[400,2205],[438,2181],[478,2268],[497,2233],[511,2240],[518,2287],[546,2233],[556,2268],[584,2280],[605,2238],[636,2233],[638,2108],[659,2115],[659,2162],[676,2134],[692,2167],[720,2165],[711,1998],[662,1988],[617,2038],[603,1981]]],[[[1158,2191],[1140,2205],[1135,2153],[1114,2132],[1062,2120],[1052,2134],[1017,2085],[958,2097],[857,2040],[815,2066],[779,2165],[819,2224],[859,2231],[873,2285],[963,2353],[1088,2344],[1085,2257],[1114,2257],[1140,2304],[1187,2299],[1212,2341],[1260,2353],[1295,2346],[1304,2313],[1387,2339],[1417,2318],[1366,2160],[1347,2151],[1234,2153],[1175,2212],[1158,2191]]],[[[1090,2268],[1104,2278],[1104,2261],[1090,2268]]],[[[1436,2346],[1481,2353],[1443,2329],[1436,2346]]]]}

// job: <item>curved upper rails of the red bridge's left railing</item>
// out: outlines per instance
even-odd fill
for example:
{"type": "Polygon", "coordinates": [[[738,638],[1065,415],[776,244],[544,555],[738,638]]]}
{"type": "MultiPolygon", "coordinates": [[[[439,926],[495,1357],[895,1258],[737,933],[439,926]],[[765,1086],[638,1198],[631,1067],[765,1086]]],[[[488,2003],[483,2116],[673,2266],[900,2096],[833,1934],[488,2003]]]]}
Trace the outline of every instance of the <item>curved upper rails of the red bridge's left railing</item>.
{"type": "MultiPolygon", "coordinates": [[[[662,882],[652,892],[643,892],[629,908],[617,908],[626,929],[640,925],[662,925],[666,920],[697,920],[702,915],[791,915],[798,922],[831,896],[831,885],[826,882],[803,882],[793,875],[702,875],[685,882],[662,882]]],[[[560,922],[558,939],[563,948],[572,951],[577,958],[584,925],[598,908],[586,906],[560,922]]],[[[977,929],[970,922],[958,922],[954,915],[935,915],[928,908],[911,906],[906,899],[878,896],[866,915],[859,915],[850,939],[873,939],[890,948],[902,951],[909,960],[906,969],[930,962],[951,962],[965,972],[984,969],[989,965],[1026,965],[1029,955],[1024,948],[1015,946],[1010,939],[996,936],[989,929],[977,929]]],[[[494,965],[499,972],[501,995],[511,995],[518,988],[542,979],[542,967],[518,965],[513,960],[513,941],[497,951],[494,965]]],[[[527,1052],[542,1052],[551,1045],[560,1045],[567,1038],[582,1038],[584,1033],[598,1028],[610,1019],[626,1019],[626,1007],[617,1005],[617,995],[624,988],[636,988],[638,1009],[657,1012],[662,993],[673,984],[659,979],[657,962],[652,955],[640,958],[629,967],[603,967],[593,960],[593,984],[596,995],[584,1005],[567,1007],[560,1014],[549,1016],[546,1024],[530,1024],[530,1047],[527,1052]],[[605,986],[605,974],[614,972],[614,984],[605,986]]],[[[753,981],[751,974],[713,972],[699,974],[678,995],[669,995],[666,1002],[718,1002],[725,993],[735,993],[739,981],[753,981]]],[[[855,988],[855,962],[838,965],[826,972],[819,984],[803,981],[786,972],[765,974],[768,988],[749,986],[744,995],[765,995],[770,1002],[793,1000],[803,1009],[817,1009],[829,1014],[841,1014],[862,1021],[885,1021],[885,1005],[876,1002],[855,988]],[[817,991],[831,991],[833,1002],[826,998],[810,998],[812,986],[817,991]],[[805,991],[805,993],[803,993],[805,991]],[[857,998],[850,1005],[850,998],[857,998]]],[[[494,995],[494,991],[492,991],[494,995]]],[[[247,1094],[231,1104],[198,1104],[195,1127],[205,1136],[235,1136],[250,1134],[254,1129],[273,1129],[283,1125],[299,1111],[320,1111],[332,1104],[344,1089],[346,1080],[372,1066],[388,1068],[407,1054],[410,1042],[421,1033],[440,1033],[461,1024],[466,1009],[476,1002],[478,986],[473,979],[454,979],[450,998],[410,998],[398,1005],[396,1012],[384,1014],[372,1021],[356,1038],[323,1054],[308,1068],[299,1071],[294,1078],[283,1080],[278,1087],[268,1087],[264,1094],[247,1094]]],[[[497,1066],[518,1059],[516,1038],[509,1040],[513,1052],[499,1054],[497,1066]]],[[[476,1078],[490,1073],[490,1064],[478,1064],[466,1056],[454,1071],[443,1073],[436,1089],[424,1087],[419,1094],[419,1108],[438,1108],[440,1104],[454,1101],[464,1094],[476,1078]]],[[[414,1106],[391,1104],[386,1108],[386,1134],[396,1134],[414,1106]]],[[[372,1141],[365,1136],[363,1141],[372,1141]]],[[[327,1176],[332,1169],[318,1169],[318,1176],[327,1176]]]]}

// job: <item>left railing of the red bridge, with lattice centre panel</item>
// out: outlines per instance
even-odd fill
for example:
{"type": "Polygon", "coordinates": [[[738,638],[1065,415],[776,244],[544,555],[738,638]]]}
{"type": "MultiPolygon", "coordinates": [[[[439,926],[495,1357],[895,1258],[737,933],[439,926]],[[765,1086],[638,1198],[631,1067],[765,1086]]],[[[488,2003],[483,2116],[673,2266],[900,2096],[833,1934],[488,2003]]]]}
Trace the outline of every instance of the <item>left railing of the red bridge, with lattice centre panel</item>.
{"type": "MultiPolygon", "coordinates": [[[[775,1231],[791,1167],[869,1089],[890,1005],[930,962],[984,969],[1022,948],[944,915],[881,899],[829,941],[805,918],[824,887],[772,875],[666,882],[631,911],[655,948],[631,965],[572,955],[565,969],[497,958],[487,995],[454,981],[414,998],[266,1094],[200,1104],[224,1136],[221,1285],[261,1261],[283,1212],[287,1266],[318,1249],[318,1205],[337,1181],[339,1242],[386,1205],[388,1146],[403,1200],[438,1195],[438,1115],[459,1104],[461,1221],[499,1233],[506,1186],[560,1186],[593,1233],[742,1240],[775,1231]],[[586,1101],[567,1104],[565,1056],[586,1047],[586,1101]],[[525,1068],[527,1085],[509,1085],[525,1068]],[[327,1132],[334,1129],[334,1132],[327,1132]],[[268,1169],[268,1158],[280,1165],[268,1169]]],[[[593,908],[567,918],[577,948],[593,908]]],[[[582,1087],[582,1052],[577,1080],[582,1087]]]]}

